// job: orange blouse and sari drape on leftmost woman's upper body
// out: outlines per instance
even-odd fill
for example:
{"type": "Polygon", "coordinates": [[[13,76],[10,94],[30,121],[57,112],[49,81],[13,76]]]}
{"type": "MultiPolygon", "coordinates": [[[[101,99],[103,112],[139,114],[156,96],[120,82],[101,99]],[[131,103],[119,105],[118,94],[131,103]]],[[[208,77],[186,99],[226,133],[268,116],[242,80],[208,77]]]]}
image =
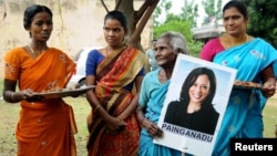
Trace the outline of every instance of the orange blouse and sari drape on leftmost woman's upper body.
{"type": "Polygon", "coordinates": [[[19,48],[7,53],[6,60],[4,77],[19,79],[20,90],[32,89],[35,92],[42,92],[57,87],[63,89],[75,71],[75,63],[65,53],[54,48],[48,49],[34,60],[24,49],[19,48]]]}

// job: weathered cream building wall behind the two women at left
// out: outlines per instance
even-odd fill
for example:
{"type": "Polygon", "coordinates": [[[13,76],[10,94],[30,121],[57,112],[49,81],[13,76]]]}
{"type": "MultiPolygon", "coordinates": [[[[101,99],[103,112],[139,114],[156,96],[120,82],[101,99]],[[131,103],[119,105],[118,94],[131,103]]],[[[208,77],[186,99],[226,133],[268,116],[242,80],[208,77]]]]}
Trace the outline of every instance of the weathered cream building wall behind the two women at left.
{"type": "MultiPolygon", "coordinates": [[[[3,56],[12,48],[23,46],[30,42],[29,33],[23,28],[23,11],[32,3],[45,4],[53,11],[54,29],[49,40],[49,46],[57,46],[73,56],[84,46],[103,46],[102,33],[106,13],[100,0],[0,0],[0,69],[3,69],[3,56]],[[2,15],[7,10],[7,17],[2,15]]],[[[109,10],[113,10],[114,0],[105,0],[109,10]]],[[[135,2],[135,9],[143,1],[135,2]]],[[[150,46],[152,21],[142,33],[142,46],[150,46]]],[[[0,70],[0,79],[3,71],[0,70]]]]}

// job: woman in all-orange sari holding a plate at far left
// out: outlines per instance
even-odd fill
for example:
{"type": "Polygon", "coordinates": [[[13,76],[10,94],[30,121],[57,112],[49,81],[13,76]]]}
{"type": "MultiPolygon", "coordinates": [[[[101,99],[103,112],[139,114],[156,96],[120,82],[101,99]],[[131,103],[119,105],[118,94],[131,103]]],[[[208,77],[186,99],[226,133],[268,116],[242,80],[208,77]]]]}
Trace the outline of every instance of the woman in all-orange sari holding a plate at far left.
{"type": "Polygon", "coordinates": [[[23,22],[31,42],[4,56],[3,97],[9,103],[20,102],[21,105],[16,131],[18,155],[75,156],[73,134],[76,126],[72,107],[62,98],[33,96],[38,92],[64,87],[75,63],[61,50],[47,44],[53,30],[49,8],[28,7],[23,22]]]}

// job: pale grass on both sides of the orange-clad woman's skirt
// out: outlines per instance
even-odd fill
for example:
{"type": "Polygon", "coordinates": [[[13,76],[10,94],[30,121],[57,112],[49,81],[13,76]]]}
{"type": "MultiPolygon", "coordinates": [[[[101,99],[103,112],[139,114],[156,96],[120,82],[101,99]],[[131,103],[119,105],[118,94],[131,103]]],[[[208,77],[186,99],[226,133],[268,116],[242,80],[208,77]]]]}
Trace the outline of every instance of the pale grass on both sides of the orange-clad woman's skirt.
{"type": "MultiPolygon", "coordinates": [[[[85,97],[80,96],[76,98],[64,98],[74,110],[75,122],[78,126],[78,134],[75,135],[75,142],[79,156],[86,155],[86,116],[90,112],[90,105],[85,97]]],[[[16,142],[16,126],[19,118],[19,104],[9,104],[0,101],[0,156],[16,156],[17,142],[16,142]]]]}

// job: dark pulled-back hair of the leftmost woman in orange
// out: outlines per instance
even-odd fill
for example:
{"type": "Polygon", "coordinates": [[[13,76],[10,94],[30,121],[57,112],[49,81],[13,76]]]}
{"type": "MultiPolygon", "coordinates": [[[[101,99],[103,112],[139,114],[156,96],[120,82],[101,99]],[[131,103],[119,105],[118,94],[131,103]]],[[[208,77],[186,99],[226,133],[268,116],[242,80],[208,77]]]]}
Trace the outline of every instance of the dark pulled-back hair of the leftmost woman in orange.
{"type": "Polygon", "coordinates": [[[52,11],[45,6],[40,6],[40,4],[30,6],[24,11],[23,25],[25,30],[31,27],[33,17],[40,12],[47,12],[50,14],[51,18],[53,17],[52,11]]]}

